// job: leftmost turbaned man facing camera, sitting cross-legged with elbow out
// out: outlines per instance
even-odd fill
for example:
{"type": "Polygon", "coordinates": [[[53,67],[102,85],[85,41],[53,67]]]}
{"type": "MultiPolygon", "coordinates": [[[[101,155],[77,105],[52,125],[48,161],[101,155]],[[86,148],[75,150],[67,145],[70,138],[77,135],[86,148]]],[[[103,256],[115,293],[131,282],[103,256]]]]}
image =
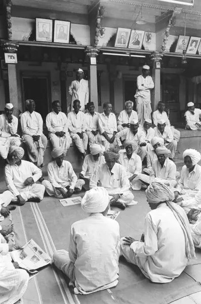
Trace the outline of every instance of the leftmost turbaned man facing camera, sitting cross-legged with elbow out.
{"type": "Polygon", "coordinates": [[[18,202],[20,206],[25,202],[39,203],[43,200],[45,187],[36,184],[42,177],[41,169],[33,163],[22,161],[24,149],[12,146],[9,150],[10,164],[6,165],[6,185],[12,193],[12,202],[18,202]]]}

